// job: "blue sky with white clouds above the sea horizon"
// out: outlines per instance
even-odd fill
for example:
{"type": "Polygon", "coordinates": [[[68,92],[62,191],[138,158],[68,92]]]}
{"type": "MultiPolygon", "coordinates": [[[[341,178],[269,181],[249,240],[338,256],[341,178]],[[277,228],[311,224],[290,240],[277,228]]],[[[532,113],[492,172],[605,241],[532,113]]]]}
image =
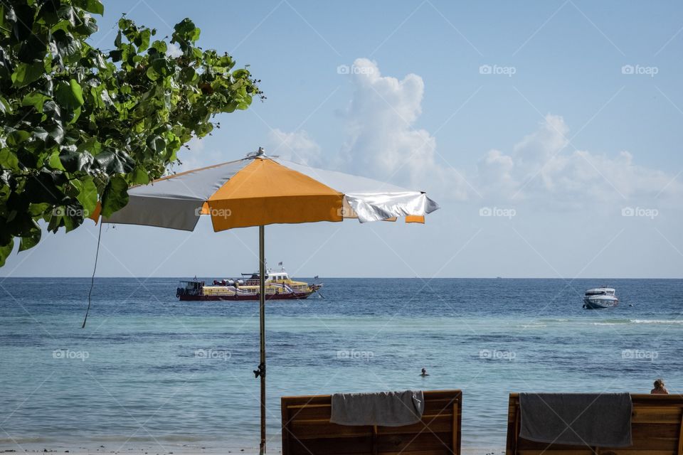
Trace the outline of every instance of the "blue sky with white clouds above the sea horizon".
{"type": "MultiPolygon", "coordinates": [[[[122,13],[159,36],[190,17],[200,45],[262,80],[268,100],[219,118],[186,168],[265,146],[442,205],[424,226],[270,227],[270,264],[321,277],[681,277],[679,2],[105,1],[93,43],[112,45],[122,13]]],[[[0,275],[87,276],[96,234],[46,234],[0,275]]],[[[214,234],[204,221],[193,233],[105,225],[98,272],[230,276],[257,266],[257,241],[255,228],[214,234]]]]}

